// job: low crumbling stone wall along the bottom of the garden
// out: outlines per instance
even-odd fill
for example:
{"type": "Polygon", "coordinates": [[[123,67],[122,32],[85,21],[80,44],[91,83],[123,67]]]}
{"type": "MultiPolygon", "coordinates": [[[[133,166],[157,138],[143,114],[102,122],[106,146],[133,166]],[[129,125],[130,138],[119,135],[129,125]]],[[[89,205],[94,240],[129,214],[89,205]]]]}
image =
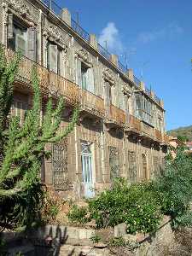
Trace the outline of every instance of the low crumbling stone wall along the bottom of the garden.
{"type": "Polygon", "coordinates": [[[131,247],[110,249],[108,242],[94,243],[90,240],[99,230],[54,225],[46,225],[38,230],[31,230],[27,234],[3,232],[1,239],[8,243],[9,255],[13,256],[18,252],[24,253],[26,256],[45,256],[48,253],[56,256],[109,256],[111,251],[115,250],[122,252],[120,255],[159,256],[163,255],[164,247],[169,247],[174,243],[169,217],[163,219],[159,230],[153,235],[137,234],[137,236],[132,236],[125,234],[125,230],[125,224],[119,224],[115,226],[113,235],[115,237],[122,236],[129,245],[132,245],[131,247]]]}

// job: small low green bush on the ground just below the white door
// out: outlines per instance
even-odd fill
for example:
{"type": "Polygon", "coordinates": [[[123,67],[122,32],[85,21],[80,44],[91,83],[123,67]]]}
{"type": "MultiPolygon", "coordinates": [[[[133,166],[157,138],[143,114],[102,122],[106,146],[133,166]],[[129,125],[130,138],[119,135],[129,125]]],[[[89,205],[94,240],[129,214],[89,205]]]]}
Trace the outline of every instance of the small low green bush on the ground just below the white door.
{"type": "Polygon", "coordinates": [[[73,223],[84,224],[89,221],[88,210],[86,207],[78,207],[74,205],[70,212],[68,212],[67,217],[73,223]]]}

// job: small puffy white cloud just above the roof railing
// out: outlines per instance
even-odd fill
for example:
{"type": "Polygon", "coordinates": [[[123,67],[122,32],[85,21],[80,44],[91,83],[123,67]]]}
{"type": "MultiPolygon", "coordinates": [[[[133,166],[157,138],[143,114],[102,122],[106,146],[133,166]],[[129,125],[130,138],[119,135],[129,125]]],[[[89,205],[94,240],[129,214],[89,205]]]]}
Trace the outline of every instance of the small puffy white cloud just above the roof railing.
{"type": "Polygon", "coordinates": [[[108,50],[114,54],[119,54],[124,50],[124,46],[119,38],[119,30],[113,22],[108,22],[107,26],[102,29],[98,38],[99,44],[108,46],[108,50]]]}

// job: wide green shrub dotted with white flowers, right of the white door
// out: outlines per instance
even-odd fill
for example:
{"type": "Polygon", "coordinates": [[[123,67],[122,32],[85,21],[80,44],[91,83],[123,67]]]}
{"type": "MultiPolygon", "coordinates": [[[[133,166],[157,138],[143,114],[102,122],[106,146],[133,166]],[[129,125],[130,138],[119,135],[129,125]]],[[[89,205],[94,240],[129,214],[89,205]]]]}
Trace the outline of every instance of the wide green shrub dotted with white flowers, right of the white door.
{"type": "Polygon", "coordinates": [[[150,184],[114,183],[113,189],[89,201],[90,218],[98,228],[125,222],[131,234],[150,232],[160,224],[160,203],[150,184]]]}

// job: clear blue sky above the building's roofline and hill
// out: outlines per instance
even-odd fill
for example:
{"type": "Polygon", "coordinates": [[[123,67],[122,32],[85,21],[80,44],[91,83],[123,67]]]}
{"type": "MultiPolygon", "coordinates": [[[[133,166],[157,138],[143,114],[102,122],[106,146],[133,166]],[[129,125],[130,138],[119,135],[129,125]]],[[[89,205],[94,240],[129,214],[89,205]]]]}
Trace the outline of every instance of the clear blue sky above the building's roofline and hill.
{"type": "Polygon", "coordinates": [[[192,125],[192,1],[57,0],[163,98],[166,129],[192,125]]]}

